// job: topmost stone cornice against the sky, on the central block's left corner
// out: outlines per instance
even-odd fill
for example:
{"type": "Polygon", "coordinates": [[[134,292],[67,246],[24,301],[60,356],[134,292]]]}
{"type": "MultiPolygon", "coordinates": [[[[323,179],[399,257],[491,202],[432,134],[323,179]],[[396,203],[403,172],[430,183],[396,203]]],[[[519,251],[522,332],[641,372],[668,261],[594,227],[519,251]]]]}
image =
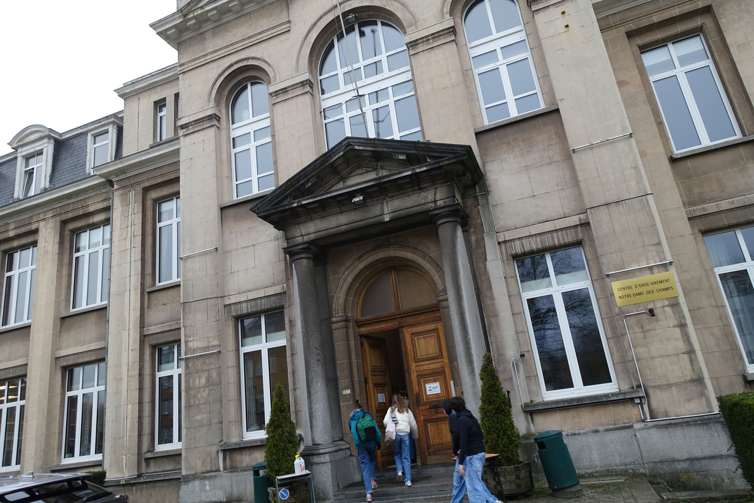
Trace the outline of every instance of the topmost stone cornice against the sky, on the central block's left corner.
{"type": "Polygon", "coordinates": [[[176,11],[149,26],[152,26],[170,46],[177,49],[179,42],[272,2],[275,0],[207,0],[203,5],[186,12],[176,11]]]}

